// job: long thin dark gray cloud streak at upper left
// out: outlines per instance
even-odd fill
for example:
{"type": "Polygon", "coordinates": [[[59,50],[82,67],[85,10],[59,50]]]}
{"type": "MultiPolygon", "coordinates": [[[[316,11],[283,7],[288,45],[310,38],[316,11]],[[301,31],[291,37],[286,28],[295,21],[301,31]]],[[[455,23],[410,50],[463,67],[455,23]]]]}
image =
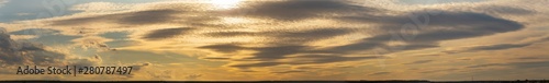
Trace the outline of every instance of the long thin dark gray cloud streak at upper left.
{"type": "Polygon", "coordinates": [[[94,22],[114,22],[128,25],[156,24],[156,23],[170,22],[175,19],[175,16],[172,15],[178,13],[182,13],[182,11],[167,10],[167,9],[145,10],[137,12],[125,12],[125,13],[114,13],[114,14],[58,20],[58,21],[53,21],[52,25],[81,25],[94,22]]]}

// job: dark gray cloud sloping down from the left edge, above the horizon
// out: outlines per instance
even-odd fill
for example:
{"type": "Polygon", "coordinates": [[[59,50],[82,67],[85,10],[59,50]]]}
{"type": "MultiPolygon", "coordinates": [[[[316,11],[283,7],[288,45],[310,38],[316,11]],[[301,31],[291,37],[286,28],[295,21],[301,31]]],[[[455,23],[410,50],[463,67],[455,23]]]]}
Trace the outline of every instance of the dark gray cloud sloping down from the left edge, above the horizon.
{"type": "Polygon", "coordinates": [[[0,33],[1,67],[18,64],[36,66],[93,66],[101,62],[98,56],[79,58],[36,43],[15,42],[5,32],[0,33]]]}

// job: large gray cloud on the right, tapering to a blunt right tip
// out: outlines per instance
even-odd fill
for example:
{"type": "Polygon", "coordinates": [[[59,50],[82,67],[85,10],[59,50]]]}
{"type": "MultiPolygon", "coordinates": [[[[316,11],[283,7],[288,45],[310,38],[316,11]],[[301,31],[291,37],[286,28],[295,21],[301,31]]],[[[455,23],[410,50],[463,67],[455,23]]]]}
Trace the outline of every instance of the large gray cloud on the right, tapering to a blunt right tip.
{"type": "MultiPolygon", "coordinates": [[[[414,13],[411,13],[413,15],[414,13]]],[[[424,13],[428,15],[427,13],[424,13]]],[[[486,35],[494,35],[497,33],[506,33],[524,28],[524,25],[503,19],[497,19],[491,15],[471,12],[444,12],[438,15],[428,17],[428,26],[416,27],[417,34],[414,37],[404,37],[413,34],[399,33],[401,26],[413,21],[408,17],[395,16],[381,20],[383,23],[380,27],[381,33],[373,37],[363,38],[355,44],[333,47],[328,50],[337,50],[340,52],[352,52],[360,50],[369,50],[373,48],[393,48],[388,46],[386,43],[391,40],[404,42],[406,45],[399,46],[401,49],[393,49],[394,51],[401,50],[415,50],[424,48],[438,47],[438,43],[442,40],[461,39],[480,37],[486,35]],[[407,40],[406,40],[407,39],[407,40]]],[[[414,29],[411,29],[414,31],[414,29]]]]}

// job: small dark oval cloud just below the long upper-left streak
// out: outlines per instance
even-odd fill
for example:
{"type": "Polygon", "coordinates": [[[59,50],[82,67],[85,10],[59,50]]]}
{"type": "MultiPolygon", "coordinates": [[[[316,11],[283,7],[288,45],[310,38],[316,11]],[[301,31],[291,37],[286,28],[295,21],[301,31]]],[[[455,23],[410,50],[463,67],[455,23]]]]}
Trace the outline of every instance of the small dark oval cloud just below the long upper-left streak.
{"type": "Polygon", "coordinates": [[[176,37],[178,35],[184,35],[192,29],[193,28],[189,28],[189,27],[156,29],[156,31],[149,32],[148,34],[145,34],[142,38],[148,39],[148,40],[171,38],[171,37],[176,37]]]}

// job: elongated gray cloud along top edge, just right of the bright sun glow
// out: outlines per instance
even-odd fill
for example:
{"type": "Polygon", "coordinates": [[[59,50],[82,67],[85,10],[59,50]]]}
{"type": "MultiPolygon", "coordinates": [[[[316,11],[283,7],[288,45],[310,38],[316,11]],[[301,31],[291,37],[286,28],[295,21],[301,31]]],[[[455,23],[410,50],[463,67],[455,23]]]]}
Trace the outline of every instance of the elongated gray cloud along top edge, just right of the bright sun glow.
{"type": "Polygon", "coordinates": [[[338,0],[288,0],[266,1],[248,8],[232,10],[234,13],[246,11],[245,16],[274,19],[280,21],[299,21],[323,14],[343,14],[344,12],[380,12],[382,9],[366,8],[338,0]]]}

